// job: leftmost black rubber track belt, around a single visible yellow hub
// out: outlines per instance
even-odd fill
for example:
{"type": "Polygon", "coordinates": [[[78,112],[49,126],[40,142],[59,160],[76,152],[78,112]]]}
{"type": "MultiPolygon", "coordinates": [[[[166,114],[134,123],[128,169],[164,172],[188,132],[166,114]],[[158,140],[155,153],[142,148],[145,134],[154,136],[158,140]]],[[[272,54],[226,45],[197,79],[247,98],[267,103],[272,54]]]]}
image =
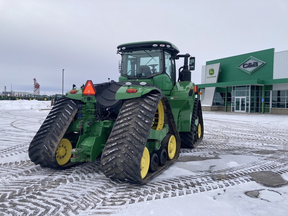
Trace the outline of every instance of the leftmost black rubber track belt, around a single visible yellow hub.
{"type": "Polygon", "coordinates": [[[77,113],[79,100],[61,97],[40,126],[28,148],[29,158],[36,165],[60,168],[55,157],[56,148],[70,122],[77,113]]]}

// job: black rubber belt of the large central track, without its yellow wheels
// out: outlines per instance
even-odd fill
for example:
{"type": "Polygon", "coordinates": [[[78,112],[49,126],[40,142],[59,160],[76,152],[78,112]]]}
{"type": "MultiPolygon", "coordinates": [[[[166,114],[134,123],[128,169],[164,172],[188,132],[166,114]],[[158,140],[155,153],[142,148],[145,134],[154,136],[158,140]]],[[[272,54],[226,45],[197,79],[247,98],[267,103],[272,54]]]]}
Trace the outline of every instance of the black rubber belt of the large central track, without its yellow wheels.
{"type": "Polygon", "coordinates": [[[176,161],[179,151],[180,139],[167,98],[162,94],[149,94],[127,100],[122,105],[102,152],[101,169],[109,178],[143,184],[176,161]],[[140,161],[160,100],[164,106],[164,123],[169,126],[168,133],[176,138],[176,153],[172,160],[155,172],[148,172],[142,179],[140,161]]]}

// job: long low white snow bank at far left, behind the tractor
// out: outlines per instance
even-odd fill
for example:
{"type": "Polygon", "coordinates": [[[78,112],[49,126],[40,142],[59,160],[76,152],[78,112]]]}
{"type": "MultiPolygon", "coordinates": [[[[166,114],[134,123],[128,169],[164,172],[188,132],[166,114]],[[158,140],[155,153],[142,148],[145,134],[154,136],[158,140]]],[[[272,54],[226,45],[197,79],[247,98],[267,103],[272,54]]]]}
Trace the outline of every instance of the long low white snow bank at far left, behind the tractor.
{"type": "Polygon", "coordinates": [[[1,110],[19,109],[47,109],[51,108],[51,101],[38,100],[0,100],[1,110]]]}

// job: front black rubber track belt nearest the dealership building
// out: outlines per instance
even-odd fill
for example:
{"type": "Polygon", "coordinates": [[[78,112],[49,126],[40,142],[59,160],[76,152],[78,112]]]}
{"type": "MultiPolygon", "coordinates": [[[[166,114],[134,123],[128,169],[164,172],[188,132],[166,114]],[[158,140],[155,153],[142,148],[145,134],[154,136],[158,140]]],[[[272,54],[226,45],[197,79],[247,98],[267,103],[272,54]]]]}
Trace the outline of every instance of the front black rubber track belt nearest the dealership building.
{"type": "Polygon", "coordinates": [[[181,147],[183,148],[193,148],[195,147],[202,139],[203,139],[203,116],[202,116],[202,108],[201,102],[198,98],[195,98],[194,106],[193,106],[193,113],[190,125],[189,132],[179,132],[180,139],[181,139],[181,147]],[[199,117],[199,122],[201,124],[201,137],[194,141],[194,124],[196,117],[199,117]]]}

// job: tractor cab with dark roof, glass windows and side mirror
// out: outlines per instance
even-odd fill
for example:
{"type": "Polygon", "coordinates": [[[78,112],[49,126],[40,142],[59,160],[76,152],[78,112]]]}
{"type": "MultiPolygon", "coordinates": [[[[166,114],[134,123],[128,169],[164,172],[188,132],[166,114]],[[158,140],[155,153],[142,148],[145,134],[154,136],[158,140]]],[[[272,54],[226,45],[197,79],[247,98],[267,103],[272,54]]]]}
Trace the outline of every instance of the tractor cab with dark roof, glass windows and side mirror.
{"type": "Polygon", "coordinates": [[[189,54],[178,55],[178,48],[170,42],[124,43],[117,46],[117,53],[122,56],[119,61],[119,81],[141,79],[160,87],[164,94],[169,94],[176,83],[175,59],[179,57],[185,57],[185,60],[180,67],[178,81],[191,81],[189,69],[193,69],[194,57],[189,54]]]}

